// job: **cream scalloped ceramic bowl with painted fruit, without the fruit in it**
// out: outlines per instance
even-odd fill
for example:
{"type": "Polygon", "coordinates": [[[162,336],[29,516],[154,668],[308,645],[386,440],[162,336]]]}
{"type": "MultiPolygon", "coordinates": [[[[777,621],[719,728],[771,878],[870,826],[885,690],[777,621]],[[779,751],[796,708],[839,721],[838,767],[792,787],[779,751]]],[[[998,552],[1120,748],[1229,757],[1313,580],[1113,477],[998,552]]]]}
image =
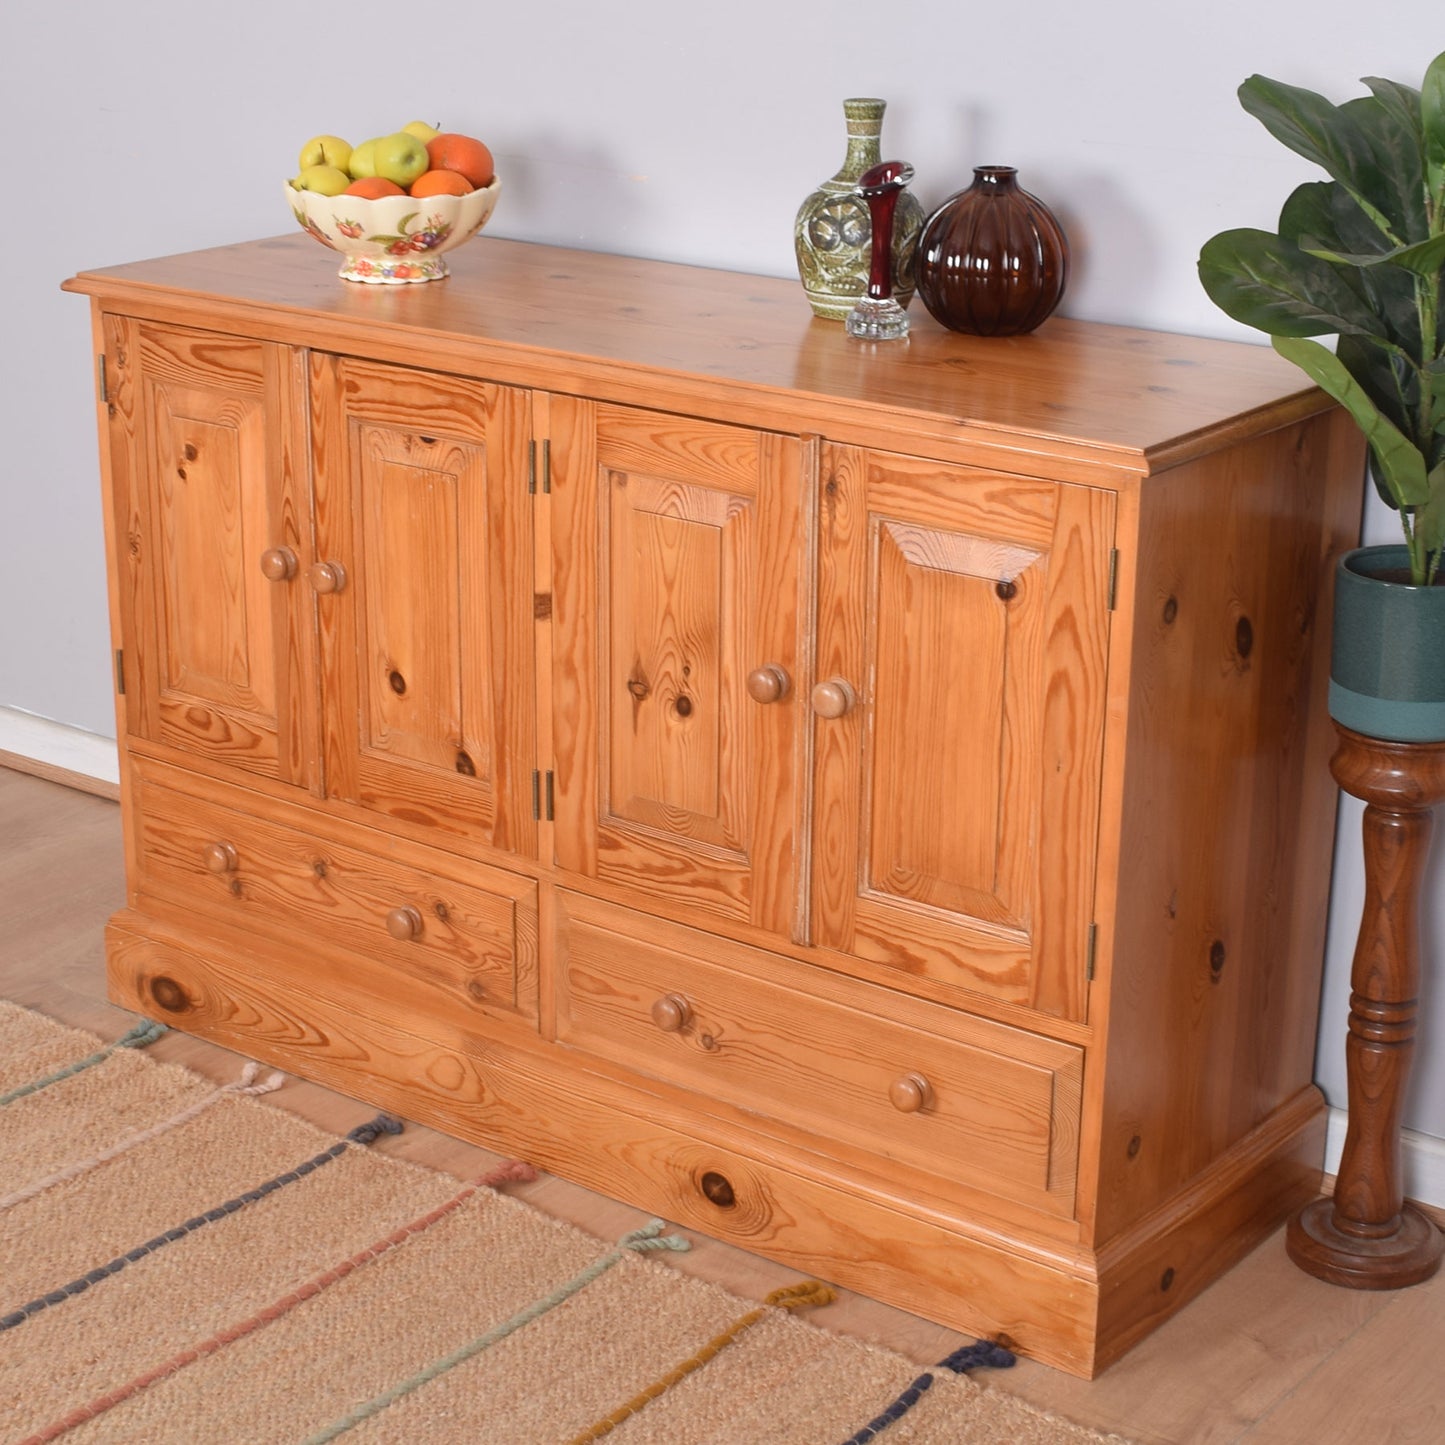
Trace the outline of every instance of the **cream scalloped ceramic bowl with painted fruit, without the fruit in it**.
{"type": "Polygon", "coordinates": [[[302,230],[340,251],[344,280],[394,286],[439,280],[444,251],[470,240],[487,224],[501,181],[467,195],[321,195],[286,182],[286,201],[302,230]]]}

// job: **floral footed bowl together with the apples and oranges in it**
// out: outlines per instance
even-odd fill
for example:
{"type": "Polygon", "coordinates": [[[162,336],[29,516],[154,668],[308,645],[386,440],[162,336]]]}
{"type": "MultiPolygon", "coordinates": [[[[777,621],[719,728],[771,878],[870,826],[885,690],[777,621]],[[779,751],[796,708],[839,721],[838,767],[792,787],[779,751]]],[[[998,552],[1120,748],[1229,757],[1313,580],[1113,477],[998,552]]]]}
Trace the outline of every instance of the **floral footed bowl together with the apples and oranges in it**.
{"type": "Polygon", "coordinates": [[[486,225],[500,189],[483,142],[413,120],[358,146],[314,136],[286,201],[302,230],[345,257],[342,279],[397,285],[445,276],[442,253],[486,225]]]}

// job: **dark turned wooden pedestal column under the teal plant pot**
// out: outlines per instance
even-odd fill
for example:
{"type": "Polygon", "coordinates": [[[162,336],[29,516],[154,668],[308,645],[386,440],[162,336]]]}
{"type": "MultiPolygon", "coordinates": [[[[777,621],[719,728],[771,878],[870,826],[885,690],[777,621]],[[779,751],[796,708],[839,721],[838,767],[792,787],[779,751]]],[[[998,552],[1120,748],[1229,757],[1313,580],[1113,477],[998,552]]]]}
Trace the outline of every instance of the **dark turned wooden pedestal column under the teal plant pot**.
{"type": "Polygon", "coordinates": [[[1306,1273],[1351,1289],[1399,1289],[1439,1267],[1445,1235],[1405,1202],[1400,1111],[1419,1013],[1419,893],[1445,743],[1387,743],[1335,724],[1335,782],[1366,802],[1364,912],[1350,977],[1350,1127],[1332,1199],[1289,1221],[1306,1273]]]}

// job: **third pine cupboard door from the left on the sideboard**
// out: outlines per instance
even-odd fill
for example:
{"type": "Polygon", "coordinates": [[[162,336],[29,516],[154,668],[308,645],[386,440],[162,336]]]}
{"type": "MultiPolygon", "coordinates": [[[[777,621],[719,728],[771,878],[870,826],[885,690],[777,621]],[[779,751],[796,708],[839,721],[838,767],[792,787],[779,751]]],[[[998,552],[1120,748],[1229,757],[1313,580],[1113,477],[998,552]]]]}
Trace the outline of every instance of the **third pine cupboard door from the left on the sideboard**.
{"type": "Polygon", "coordinates": [[[805,447],[553,397],[556,861],[798,920],[805,447]]]}

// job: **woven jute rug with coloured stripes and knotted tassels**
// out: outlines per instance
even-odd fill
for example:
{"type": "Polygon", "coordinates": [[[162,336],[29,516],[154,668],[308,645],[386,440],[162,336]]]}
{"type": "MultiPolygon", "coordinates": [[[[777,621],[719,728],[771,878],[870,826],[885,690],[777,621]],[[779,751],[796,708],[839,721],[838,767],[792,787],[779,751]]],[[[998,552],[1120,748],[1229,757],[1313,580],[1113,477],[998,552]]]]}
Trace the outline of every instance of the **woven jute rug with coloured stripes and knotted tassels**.
{"type": "MultiPolygon", "coordinates": [[[[740,1299],[655,1221],[595,1240],[0,1003],[0,1441],[1033,1445],[1101,1436],[967,1373],[809,1324],[824,1285],[740,1299]]],[[[259,1095],[270,1094],[270,1098],[259,1095]]],[[[984,1374],[988,1371],[984,1370],[984,1374]]]]}

